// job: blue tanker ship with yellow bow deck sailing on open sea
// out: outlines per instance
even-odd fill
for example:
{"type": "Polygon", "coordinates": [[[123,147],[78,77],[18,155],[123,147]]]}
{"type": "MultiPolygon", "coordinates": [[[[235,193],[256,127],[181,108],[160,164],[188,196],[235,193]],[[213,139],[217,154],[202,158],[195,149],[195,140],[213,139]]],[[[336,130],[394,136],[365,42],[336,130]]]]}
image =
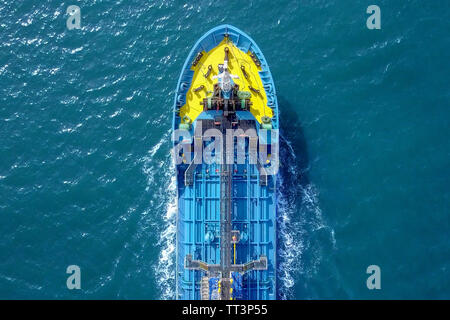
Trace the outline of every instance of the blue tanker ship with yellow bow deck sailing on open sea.
{"type": "Polygon", "coordinates": [[[231,25],[204,34],[174,100],[177,299],[276,299],[278,124],[257,44],[231,25]]]}

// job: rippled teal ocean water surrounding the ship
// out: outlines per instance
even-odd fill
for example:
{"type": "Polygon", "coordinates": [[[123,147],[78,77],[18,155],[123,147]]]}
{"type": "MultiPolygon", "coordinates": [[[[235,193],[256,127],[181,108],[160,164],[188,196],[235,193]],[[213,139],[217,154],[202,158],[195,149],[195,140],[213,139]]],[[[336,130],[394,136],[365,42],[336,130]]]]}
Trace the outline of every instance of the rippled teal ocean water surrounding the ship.
{"type": "Polygon", "coordinates": [[[0,1],[0,298],[174,298],[173,94],[223,23],[277,87],[279,298],[449,299],[447,0],[0,1]]]}

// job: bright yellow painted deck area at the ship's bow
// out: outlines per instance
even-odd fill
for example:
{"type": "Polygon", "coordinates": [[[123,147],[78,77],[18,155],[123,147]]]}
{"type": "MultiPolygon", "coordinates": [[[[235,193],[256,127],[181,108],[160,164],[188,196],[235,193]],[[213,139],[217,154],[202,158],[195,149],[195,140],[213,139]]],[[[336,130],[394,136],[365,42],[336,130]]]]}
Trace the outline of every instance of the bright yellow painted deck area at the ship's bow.
{"type": "Polygon", "coordinates": [[[181,122],[184,123],[183,117],[186,115],[194,121],[199,114],[203,111],[203,105],[200,102],[204,98],[212,95],[214,83],[217,80],[213,80],[212,77],[218,74],[217,66],[223,63],[225,57],[225,47],[230,49],[228,53],[228,69],[231,74],[236,74],[239,79],[233,79],[233,81],[239,85],[239,90],[248,91],[251,93],[250,100],[252,101],[252,106],[250,107],[250,112],[256,118],[256,120],[261,123],[262,116],[272,117],[272,109],[267,106],[267,96],[264,90],[258,68],[250,57],[249,52],[243,52],[238,47],[236,47],[231,40],[226,42],[224,39],[217,47],[211,49],[208,53],[203,52],[203,57],[200,59],[196,67],[191,67],[194,71],[194,76],[192,78],[191,86],[186,93],[186,104],[180,109],[181,122]],[[208,78],[204,75],[208,72],[208,66],[212,66],[211,74],[208,78]],[[241,66],[245,67],[245,71],[248,74],[248,79],[244,77],[241,70],[241,66]],[[204,86],[204,89],[194,92],[193,90],[204,86]],[[251,91],[249,86],[259,90],[259,94],[251,91]]]}

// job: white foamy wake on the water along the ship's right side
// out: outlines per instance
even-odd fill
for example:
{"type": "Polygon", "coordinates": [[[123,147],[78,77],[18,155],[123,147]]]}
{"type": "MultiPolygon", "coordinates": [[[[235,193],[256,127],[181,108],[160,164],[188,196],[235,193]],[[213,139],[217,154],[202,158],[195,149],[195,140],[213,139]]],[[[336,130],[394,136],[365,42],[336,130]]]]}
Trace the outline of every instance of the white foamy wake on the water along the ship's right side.
{"type": "MultiPolygon", "coordinates": [[[[315,251],[315,244],[308,238],[310,232],[325,228],[330,231],[319,206],[318,191],[308,182],[299,161],[302,155],[295,152],[290,141],[281,135],[280,159],[282,167],[278,175],[278,298],[298,299],[294,286],[302,275],[314,274],[322,257],[315,251]],[[311,258],[303,259],[307,253],[311,258]]],[[[334,244],[334,232],[330,231],[334,244]]]]}

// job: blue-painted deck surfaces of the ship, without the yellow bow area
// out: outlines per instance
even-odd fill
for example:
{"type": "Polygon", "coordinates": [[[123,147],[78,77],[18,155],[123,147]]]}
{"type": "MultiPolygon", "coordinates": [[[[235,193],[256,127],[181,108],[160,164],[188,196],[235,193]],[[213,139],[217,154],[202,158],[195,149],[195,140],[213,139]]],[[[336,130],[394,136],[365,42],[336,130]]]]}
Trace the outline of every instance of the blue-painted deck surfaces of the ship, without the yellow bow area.
{"type": "MultiPolygon", "coordinates": [[[[192,71],[190,63],[198,52],[214,48],[228,34],[240,49],[256,53],[261,61],[262,78],[274,111],[273,128],[278,129],[278,105],[272,76],[266,60],[254,41],[230,25],[207,32],[191,50],[181,72],[174,101],[174,129],[180,118],[177,110],[185,100],[186,87],[192,71]]],[[[219,111],[220,112],[220,111],[219,111]]],[[[239,119],[255,121],[249,112],[237,114],[239,119]]],[[[213,119],[213,112],[202,113],[199,119],[213,119]]],[[[257,128],[258,124],[255,122],[257,128]]],[[[247,143],[248,145],[248,143],[247,143]]],[[[205,272],[185,268],[186,255],[207,264],[220,263],[220,165],[200,164],[195,168],[192,185],[185,185],[186,165],[177,166],[177,299],[201,299],[200,287],[205,272]],[[212,236],[212,237],[211,237],[212,236]]],[[[261,185],[257,166],[249,163],[232,165],[232,228],[239,230],[241,240],[236,244],[236,264],[245,264],[259,256],[267,256],[267,270],[252,270],[242,277],[239,299],[276,299],[276,175],[268,176],[267,185],[261,185]]],[[[232,256],[234,255],[234,251],[232,256]]]]}

